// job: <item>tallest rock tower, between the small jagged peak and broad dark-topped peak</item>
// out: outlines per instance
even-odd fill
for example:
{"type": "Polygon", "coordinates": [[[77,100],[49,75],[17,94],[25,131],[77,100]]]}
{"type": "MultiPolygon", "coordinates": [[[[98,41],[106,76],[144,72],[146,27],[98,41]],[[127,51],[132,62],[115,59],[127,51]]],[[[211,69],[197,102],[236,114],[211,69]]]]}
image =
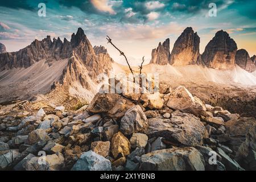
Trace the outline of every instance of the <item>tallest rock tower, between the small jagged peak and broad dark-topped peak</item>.
{"type": "Polygon", "coordinates": [[[200,60],[200,38],[191,27],[179,36],[172,49],[170,64],[175,66],[197,64],[200,60]]]}

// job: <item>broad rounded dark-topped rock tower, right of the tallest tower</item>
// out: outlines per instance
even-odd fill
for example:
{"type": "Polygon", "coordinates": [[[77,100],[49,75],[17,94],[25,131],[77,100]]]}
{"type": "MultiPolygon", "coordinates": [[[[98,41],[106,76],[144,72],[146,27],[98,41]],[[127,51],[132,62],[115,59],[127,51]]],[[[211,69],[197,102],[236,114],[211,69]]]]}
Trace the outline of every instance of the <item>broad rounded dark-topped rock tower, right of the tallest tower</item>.
{"type": "Polygon", "coordinates": [[[235,66],[236,52],[236,42],[227,32],[221,30],[205,47],[202,59],[209,68],[232,69],[235,66]]]}

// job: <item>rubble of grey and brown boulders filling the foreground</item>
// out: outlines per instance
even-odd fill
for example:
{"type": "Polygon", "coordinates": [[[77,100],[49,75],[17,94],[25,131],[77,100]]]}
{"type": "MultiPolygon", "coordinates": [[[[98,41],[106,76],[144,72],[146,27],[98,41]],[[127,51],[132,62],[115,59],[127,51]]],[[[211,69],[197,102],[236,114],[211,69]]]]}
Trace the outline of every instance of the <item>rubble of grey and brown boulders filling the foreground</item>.
{"type": "Polygon", "coordinates": [[[0,169],[256,170],[255,118],[206,105],[183,86],[98,93],[77,111],[0,111],[0,169]],[[32,114],[32,115],[31,115],[32,114]]]}

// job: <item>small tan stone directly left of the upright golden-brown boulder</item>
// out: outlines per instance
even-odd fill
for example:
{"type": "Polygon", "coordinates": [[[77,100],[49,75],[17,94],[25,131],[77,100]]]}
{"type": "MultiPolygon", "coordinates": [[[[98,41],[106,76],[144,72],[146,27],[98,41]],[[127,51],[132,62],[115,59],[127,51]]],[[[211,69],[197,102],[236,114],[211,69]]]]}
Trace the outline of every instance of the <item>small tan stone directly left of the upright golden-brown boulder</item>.
{"type": "Polygon", "coordinates": [[[96,154],[98,155],[102,155],[104,156],[104,158],[106,158],[106,156],[109,155],[109,148],[110,148],[110,142],[102,142],[102,141],[98,141],[98,142],[92,142],[90,144],[90,150],[92,150],[93,152],[96,152],[96,154]]]}

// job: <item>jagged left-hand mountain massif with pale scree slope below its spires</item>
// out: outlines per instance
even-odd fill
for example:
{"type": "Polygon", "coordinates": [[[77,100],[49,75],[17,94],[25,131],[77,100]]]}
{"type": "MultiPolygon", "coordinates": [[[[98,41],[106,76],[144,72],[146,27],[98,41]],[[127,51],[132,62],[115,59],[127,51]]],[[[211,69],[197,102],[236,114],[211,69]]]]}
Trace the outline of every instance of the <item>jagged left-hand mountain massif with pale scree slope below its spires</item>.
{"type": "Polygon", "coordinates": [[[50,36],[40,41],[35,40],[30,46],[17,52],[1,53],[1,88],[10,89],[10,92],[14,94],[8,97],[7,93],[0,90],[0,102],[16,98],[27,100],[38,93],[45,94],[49,91],[51,92],[47,97],[49,99],[55,97],[54,100],[62,101],[59,104],[63,104],[63,100],[69,96],[76,96],[75,98],[80,98],[80,100],[92,100],[98,91],[97,76],[100,73],[109,75],[112,63],[113,59],[104,47],[92,47],[82,28],[79,28],[76,34],[72,34],[71,42],[67,39],[62,42],[60,38],[54,38],[52,41],[50,36]],[[13,68],[22,68],[22,77],[27,78],[15,79],[15,82],[19,84],[19,87],[15,88],[10,86],[13,78],[9,76],[9,73],[15,72],[13,68]],[[27,68],[31,68],[33,73],[28,72],[27,68]],[[47,75],[52,72],[55,75],[47,79],[47,75]],[[27,86],[30,84],[33,85],[33,90],[27,86]],[[23,89],[24,86],[26,88],[23,89]],[[26,93],[21,93],[20,90],[26,90],[26,93]],[[55,93],[51,94],[54,91],[55,93]],[[59,98],[56,98],[56,95],[59,98]]]}

